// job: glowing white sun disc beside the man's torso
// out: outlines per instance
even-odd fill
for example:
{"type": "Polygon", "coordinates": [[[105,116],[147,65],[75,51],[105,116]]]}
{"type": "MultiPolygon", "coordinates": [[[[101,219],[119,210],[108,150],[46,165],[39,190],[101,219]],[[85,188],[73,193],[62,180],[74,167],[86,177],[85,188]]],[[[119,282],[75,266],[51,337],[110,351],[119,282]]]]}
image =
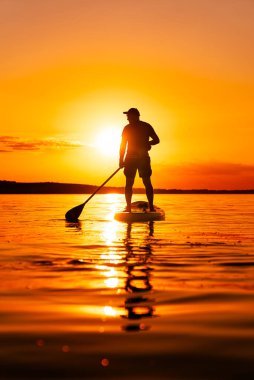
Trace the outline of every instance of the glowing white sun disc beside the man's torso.
{"type": "Polygon", "coordinates": [[[98,132],[94,139],[94,147],[105,156],[116,156],[119,152],[121,134],[119,129],[106,127],[98,132]]]}

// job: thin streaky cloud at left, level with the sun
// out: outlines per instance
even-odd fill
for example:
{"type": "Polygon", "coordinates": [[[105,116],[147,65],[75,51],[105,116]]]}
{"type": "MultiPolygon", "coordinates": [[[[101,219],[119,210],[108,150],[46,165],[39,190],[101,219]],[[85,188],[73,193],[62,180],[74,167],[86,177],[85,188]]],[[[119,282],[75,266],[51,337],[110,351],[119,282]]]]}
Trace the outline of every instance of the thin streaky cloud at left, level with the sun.
{"type": "Polygon", "coordinates": [[[15,151],[41,151],[45,149],[60,150],[81,148],[84,144],[78,141],[65,141],[60,139],[27,140],[15,136],[0,136],[0,152],[15,151]]]}

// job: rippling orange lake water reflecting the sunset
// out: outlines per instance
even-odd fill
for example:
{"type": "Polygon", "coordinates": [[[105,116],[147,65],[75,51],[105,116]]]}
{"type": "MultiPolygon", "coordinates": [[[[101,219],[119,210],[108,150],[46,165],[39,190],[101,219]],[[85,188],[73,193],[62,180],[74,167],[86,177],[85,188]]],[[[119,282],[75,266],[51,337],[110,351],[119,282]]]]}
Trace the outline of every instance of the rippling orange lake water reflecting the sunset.
{"type": "Polygon", "coordinates": [[[253,195],[85,199],[0,196],[1,379],[253,378],[253,195]]]}

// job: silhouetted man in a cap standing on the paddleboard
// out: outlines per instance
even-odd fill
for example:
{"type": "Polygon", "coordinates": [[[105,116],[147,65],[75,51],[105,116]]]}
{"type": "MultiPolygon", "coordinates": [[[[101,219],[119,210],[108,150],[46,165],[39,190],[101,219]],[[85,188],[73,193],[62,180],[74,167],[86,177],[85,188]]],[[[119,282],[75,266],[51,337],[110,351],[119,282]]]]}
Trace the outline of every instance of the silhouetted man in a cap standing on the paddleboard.
{"type": "Polygon", "coordinates": [[[137,108],[130,108],[124,114],[127,115],[129,124],[124,127],[122,133],[119,166],[124,167],[126,176],[126,211],[131,212],[132,187],[137,170],[146,188],[150,211],[154,211],[153,186],[150,178],[152,169],[148,151],[152,145],[159,144],[160,140],[153,127],[139,119],[140,113],[137,108]]]}

